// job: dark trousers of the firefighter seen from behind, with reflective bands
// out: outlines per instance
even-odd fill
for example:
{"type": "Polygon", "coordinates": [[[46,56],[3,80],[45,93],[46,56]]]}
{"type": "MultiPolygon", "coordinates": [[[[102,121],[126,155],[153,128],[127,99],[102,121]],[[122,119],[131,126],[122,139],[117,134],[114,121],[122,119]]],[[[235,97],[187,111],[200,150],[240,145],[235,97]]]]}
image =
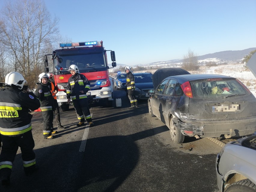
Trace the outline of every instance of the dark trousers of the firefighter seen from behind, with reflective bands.
{"type": "Polygon", "coordinates": [[[32,173],[35,170],[35,153],[33,151],[35,142],[32,136],[32,131],[29,130],[19,136],[1,135],[1,137],[3,145],[0,154],[0,175],[11,175],[12,163],[19,147],[21,150],[24,171],[26,175],[32,173]]]}

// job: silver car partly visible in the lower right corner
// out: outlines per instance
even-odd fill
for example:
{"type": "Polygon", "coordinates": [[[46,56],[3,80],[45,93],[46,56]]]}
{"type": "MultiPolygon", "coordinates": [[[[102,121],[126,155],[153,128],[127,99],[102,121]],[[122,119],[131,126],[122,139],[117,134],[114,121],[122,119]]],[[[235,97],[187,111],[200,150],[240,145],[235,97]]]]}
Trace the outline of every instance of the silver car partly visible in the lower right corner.
{"type": "Polygon", "coordinates": [[[215,167],[220,192],[255,192],[256,135],[227,143],[215,167]]]}

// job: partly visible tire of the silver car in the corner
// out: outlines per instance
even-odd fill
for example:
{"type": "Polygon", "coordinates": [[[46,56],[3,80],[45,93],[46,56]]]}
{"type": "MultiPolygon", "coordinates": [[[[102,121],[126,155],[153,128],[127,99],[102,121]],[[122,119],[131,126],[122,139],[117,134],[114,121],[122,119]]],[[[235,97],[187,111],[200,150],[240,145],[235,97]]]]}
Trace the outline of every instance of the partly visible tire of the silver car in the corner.
{"type": "Polygon", "coordinates": [[[229,185],[225,192],[254,192],[255,190],[256,185],[249,179],[244,179],[229,185]]]}

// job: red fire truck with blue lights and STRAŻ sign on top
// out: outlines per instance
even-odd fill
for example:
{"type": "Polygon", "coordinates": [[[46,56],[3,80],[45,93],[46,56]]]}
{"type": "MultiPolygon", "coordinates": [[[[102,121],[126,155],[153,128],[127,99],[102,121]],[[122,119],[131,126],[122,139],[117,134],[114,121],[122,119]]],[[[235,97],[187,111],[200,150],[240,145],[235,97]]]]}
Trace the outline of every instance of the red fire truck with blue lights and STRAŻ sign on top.
{"type": "MultiPolygon", "coordinates": [[[[52,54],[44,56],[45,72],[53,73],[55,85],[59,92],[56,94],[62,111],[69,110],[67,103],[67,82],[71,73],[69,66],[78,66],[79,72],[90,81],[90,91],[87,95],[93,97],[93,101],[103,101],[102,104],[112,106],[113,86],[112,79],[108,75],[107,51],[110,51],[112,67],[116,67],[115,52],[105,50],[102,41],[85,41],[74,43],[60,43],[60,49],[52,54]],[[53,62],[48,63],[48,57],[53,62]]],[[[71,103],[72,104],[72,103],[71,103]]]]}

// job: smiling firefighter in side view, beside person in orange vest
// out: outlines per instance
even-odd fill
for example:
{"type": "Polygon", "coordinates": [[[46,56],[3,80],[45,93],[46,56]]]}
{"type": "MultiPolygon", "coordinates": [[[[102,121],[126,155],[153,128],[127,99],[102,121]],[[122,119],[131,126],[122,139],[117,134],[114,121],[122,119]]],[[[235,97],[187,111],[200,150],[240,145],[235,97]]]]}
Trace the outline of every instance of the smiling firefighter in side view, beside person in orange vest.
{"type": "Polygon", "coordinates": [[[53,130],[53,96],[50,88],[47,86],[49,76],[41,73],[38,77],[39,84],[35,90],[35,95],[41,101],[41,112],[44,119],[43,135],[44,139],[53,139],[57,131],[53,130]]]}

